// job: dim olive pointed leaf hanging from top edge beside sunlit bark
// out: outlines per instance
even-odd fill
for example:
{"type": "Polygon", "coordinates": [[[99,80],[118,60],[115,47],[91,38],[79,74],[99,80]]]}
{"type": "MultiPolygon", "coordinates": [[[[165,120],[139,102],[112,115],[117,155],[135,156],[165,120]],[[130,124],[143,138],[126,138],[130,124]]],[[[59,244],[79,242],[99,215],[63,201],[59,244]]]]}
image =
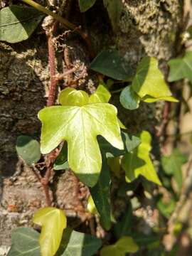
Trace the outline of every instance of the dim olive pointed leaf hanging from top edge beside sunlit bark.
{"type": "Polygon", "coordinates": [[[110,21],[112,23],[112,28],[114,31],[117,30],[117,26],[119,24],[119,19],[122,15],[122,1],[121,0],[103,0],[105,7],[107,8],[107,12],[110,17],[110,21]]]}

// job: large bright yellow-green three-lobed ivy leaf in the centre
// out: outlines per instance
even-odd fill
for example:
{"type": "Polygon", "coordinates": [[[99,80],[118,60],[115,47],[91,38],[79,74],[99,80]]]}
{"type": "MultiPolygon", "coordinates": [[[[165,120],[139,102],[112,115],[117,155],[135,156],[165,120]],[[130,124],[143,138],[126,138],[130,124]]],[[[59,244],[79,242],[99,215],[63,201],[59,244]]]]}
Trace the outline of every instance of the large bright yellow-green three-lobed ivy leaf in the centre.
{"type": "Polygon", "coordinates": [[[49,153],[66,140],[69,166],[87,186],[95,186],[102,167],[97,135],[123,149],[117,109],[108,103],[46,107],[38,117],[43,124],[42,153],[49,153]]]}

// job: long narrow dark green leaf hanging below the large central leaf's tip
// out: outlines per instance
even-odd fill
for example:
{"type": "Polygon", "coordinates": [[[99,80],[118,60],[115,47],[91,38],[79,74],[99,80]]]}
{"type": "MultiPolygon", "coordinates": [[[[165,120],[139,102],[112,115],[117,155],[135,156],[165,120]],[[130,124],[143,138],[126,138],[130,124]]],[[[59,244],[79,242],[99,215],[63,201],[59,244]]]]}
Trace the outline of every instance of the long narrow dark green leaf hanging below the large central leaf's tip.
{"type": "Polygon", "coordinates": [[[110,230],[110,170],[107,166],[107,159],[104,153],[102,153],[102,171],[100,178],[97,181],[97,184],[90,188],[90,193],[97,211],[100,214],[102,226],[106,230],[110,230]]]}

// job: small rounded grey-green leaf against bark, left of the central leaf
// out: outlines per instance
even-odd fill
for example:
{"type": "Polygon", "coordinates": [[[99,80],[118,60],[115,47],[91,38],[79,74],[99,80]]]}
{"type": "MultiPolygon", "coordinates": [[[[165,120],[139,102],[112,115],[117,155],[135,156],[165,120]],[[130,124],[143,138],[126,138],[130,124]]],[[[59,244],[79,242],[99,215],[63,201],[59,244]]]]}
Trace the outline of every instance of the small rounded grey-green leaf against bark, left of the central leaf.
{"type": "Polygon", "coordinates": [[[36,139],[29,136],[19,136],[16,139],[16,151],[18,156],[21,157],[26,164],[31,165],[41,159],[40,145],[36,139]]]}

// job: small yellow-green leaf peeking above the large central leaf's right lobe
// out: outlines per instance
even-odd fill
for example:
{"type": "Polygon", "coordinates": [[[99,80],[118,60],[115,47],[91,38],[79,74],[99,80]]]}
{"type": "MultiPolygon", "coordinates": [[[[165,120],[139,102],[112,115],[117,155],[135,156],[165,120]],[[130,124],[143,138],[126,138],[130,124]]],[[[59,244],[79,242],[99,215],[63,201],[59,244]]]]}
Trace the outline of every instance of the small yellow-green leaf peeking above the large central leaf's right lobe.
{"type": "Polygon", "coordinates": [[[111,94],[110,92],[107,90],[107,88],[100,84],[97,87],[96,92],[94,92],[92,95],[90,95],[90,103],[108,103],[110,100],[111,94]]]}

